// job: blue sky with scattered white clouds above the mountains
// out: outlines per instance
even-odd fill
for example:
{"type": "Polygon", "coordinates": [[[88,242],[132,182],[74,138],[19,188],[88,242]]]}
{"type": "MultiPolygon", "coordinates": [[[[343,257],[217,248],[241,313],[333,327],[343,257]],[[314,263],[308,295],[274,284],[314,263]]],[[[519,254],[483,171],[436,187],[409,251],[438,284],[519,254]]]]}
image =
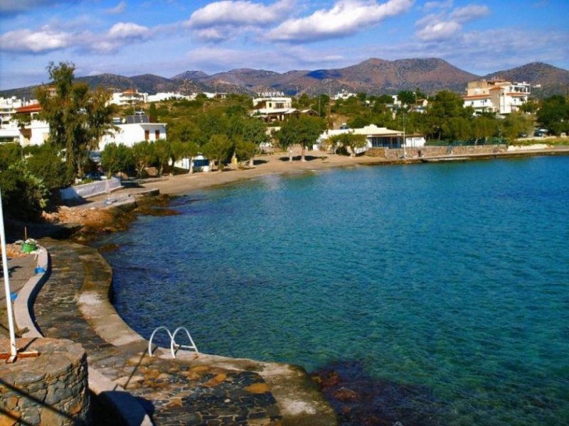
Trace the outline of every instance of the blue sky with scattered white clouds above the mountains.
{"type": "Polygon", "coordinates": [[[0,0],[0,89],[75,75],[285,72],[442,58],[484,75],[569,69],[569,0],[0,0]]]}

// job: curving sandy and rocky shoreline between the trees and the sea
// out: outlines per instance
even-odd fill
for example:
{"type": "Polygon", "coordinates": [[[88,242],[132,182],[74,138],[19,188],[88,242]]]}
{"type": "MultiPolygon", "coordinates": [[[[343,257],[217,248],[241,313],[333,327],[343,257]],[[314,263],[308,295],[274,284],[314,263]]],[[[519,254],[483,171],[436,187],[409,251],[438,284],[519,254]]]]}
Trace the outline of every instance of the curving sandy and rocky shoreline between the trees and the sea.
{"type": "MultiPolygon", "coordinates": [[[[300,151],[293,152],[294,160],[289,162],[285,153],[265,154],[255,158],[254,168],[238,169],[230,165],[223,172],[210,171],[198,173],[184,173],[179,175],[163,176],[161,178],[147,178],[134,181],[137,187],[123,187],[112,192],[112,195],[97,195],[85,200],[83,204],[73,207],[60,206],[57,211],[44,214],[45,222],[38,226],[39,234],[49,235],[50,232],[41,231],[42,228],[55,227],[63,229],[69,239],[87,244],[97,239],[100,234],[124,231],[136,220],[139,214],[151,214],[148,207],[152,204],[166,207],[172,197],[189,195],[200,190],[210,190],[224,185],[265,178],[267,176],[297,175],[299,173],[318,172],[337,168],[358,168],[369,166],[388,165],[418,165],[429,163],[464,163],[467,161],[516,159],[549,155],[569,155],[569,146],[507,151],[501,153],[470,153],[456,155],[425,155],[408,158],[385,159],[361,155],[349,157],[345,155],[329,154],[320,151],[309,151],[307,161],[300,161],[300,151]],[[158,195],[157,202],[141,202],[144,195],[158,195]],[[160,200],[161,199],[161,200],[160,200]],[[107,201],[111,200],[109,204],[107,201]]],[[[149,199],[150,200],[150,199],[149,199]]],[[[167,214],[167,213],[166,213],[167,214]]],[[[19,223],[18,226],[25,224],[19,223]]],[[[32,224],[28,224],[33,228],[32,224]]],[[[38,236],[39,237],[39,236],[38,236]]]]}

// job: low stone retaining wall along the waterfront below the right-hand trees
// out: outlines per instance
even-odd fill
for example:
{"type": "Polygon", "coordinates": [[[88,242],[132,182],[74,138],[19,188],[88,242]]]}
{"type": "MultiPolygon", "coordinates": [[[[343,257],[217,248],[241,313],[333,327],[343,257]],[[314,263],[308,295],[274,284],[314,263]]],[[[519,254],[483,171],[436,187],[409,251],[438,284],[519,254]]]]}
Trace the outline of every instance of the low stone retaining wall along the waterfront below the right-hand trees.
{"type": "MultiPolygon", "coordinates": [[[[505,145],[474,145],[474,146],[422,146],[420,148],[405,148],[408,157],[441,157],[444,155],[474,155],[504,153],[505,145]],[[420,155],[419,155],[420,153],[420,155]]],[[[370,148],[366,152],[370,157],[397,160],[403,156],[403,148],[370,148]]]]}

